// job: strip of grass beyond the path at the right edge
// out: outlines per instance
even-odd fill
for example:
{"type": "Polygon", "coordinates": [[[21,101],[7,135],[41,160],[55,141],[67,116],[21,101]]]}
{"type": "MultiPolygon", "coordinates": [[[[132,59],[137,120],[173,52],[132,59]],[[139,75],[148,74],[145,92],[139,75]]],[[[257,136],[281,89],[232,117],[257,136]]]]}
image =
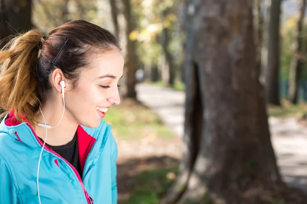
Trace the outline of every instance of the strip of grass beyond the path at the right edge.
{"type": "Polygon", "coordinates": [[[291,105],[287,101],[283,101],[280,107],[268,106],[268,115],[278,118],[302,117],[307,114],[307,104],[291,105]]]}

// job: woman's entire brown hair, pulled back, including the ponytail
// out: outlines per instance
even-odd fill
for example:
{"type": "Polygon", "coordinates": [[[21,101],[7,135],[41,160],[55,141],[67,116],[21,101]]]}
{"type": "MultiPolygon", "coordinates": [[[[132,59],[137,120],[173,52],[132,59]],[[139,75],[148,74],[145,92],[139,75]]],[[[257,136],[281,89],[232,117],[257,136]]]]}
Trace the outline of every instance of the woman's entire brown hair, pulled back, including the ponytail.
{"type": "Polygon", "coordinates": [[[20,34],[0,51],[0,107],[3,115],[34,124],[39,106],[51,91],[52,72],[59,68],[76,88],[80,70],[89,67],[90,53],[119,49],[109,31],[84,20],[64,23],[43,37],[37,30],[20,34]],[[66,43],[66,44],[65,44],[66,43]],[[64,46],[63,46],[64,45],[64,46]]]}

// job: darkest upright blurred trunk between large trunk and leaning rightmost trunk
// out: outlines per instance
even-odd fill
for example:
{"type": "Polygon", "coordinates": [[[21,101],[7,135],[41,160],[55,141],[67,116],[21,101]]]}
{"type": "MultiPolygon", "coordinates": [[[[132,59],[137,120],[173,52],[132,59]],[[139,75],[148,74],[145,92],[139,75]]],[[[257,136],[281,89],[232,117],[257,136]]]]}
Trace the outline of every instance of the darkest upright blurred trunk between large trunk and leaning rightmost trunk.
{"type": "Polygon", "coordinates": [[[272,0],[270,8],[268,67],[266,70],[267,103],[280,106],[279,101],[279,55],[280,55],[280,4],[281,0],[272,0]]]}

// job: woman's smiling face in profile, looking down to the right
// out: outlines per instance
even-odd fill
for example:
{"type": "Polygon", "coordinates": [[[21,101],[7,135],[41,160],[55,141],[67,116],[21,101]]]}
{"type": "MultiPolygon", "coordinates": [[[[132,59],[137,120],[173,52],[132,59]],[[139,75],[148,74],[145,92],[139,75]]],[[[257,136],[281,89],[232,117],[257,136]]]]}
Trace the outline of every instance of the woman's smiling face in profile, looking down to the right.
{"type": "Polygon", "coordinates": [[[76,90],[65,92],[65,109],[71,119],[87,127],[99,126],[107,109],[120,104],[118,82],[123,67],[118,50],[93,57],[91,68],[81,71],[76,90]]]}

